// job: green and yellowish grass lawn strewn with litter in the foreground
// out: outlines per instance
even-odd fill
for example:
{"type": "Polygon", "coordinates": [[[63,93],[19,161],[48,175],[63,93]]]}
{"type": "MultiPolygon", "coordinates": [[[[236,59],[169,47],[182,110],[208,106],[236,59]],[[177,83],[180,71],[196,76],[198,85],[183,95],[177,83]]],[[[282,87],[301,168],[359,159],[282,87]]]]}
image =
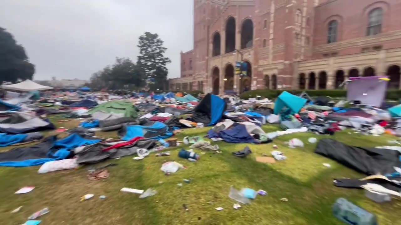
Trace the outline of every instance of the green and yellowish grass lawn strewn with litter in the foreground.
{"type": "MultiPolygon", "coordinates": [[[[57,118],[52,120],[57,121],[57,118]]],[[[76,127],[78,122],[56,124],[69,128],[76,127]]],[[[186,129],[177,138],[182,140],[185,136],[203,136],[209,129],[186,129]]],[[[266,125],[263,129],[269,132],[279,128],[266,125]]],[[[97,136],[115,138],[117,134],[97,133],[97,136]]],[[[343,223],[332,216],[331,207],[337,198],[345,197],[375,213],[380,225],[399,224],[401,201],[393,199],[391,203],[378,204],[367,199],[362,190],[334,187],[333,178],[360,178],[363,175],[315,154],[316,144],[290,149],[284,143],[291,138],[299,138],[307,143],[309,137],[335,138],[349,145],[365,147],[385,145],[388,140],[394,139],[386,135],[373,137],[341,131],[332,137],[312,133],[286,135],[263,145],[217,142],[214,144],[218,144],[223,153],[207,152],[196,163],[178,158],[180,147],[176,147],[168,149],[172,153],[170,157],[149,155],[142,161],[125,157],[99,163],[96,166],[118,163],[115,167],[109,167],[110,177],[100,181],[87,179],[88,167],[47,174],[38,174],[39,167],[0,167],[0,221],[2,225],[21,224],[35,211],[49,207],[50,213],[40,217],[43,225],[340,225],[343,223]],[[269,154],[273,144],[278,145],[278,150],[288,159],[270,165],[256,162],[255,157],[269,154]],[[237,158],[231,154],[247,145],[253,151],[247,158],[237,158]],[[166,176],[160,171],[166,161],[177,161],[188,169],[166,176]],[[330,163],[331,168],[324,167],[322,163],[330,163]],[[192,180],[184,183],[183,179],[192,180]],[[183,183],[183,186],[178,186],[178,183],[183,183]],[[24,195],[14,194],[20,187],[28,185],[36,188],[24,195]],[[257,196],[251,204],[235,210],[235,201],[228,197],[231,185],[237,189],[263,189],[268,195],[257,196]],[[122,187],[153,188],[158,194],[139,199],[137,194],[120,192],[122,187]],[[95,194],[95,197],[80,202],[80,197],[88,193],[95,194]],[[101,200],[99,195],[106,195],[107,199],[101,200]],[[280,201],[281,198],[289,201],[280,201]],[[188,207],[188,212],[183,204],[188,207]],[[20,212],[10,213],[21,205],[20,212]],[[223,207],[224,210],[217,211],[216,207],[223,207]]],[[[2,150],[7,149],[10,148],[2,150]]]]}

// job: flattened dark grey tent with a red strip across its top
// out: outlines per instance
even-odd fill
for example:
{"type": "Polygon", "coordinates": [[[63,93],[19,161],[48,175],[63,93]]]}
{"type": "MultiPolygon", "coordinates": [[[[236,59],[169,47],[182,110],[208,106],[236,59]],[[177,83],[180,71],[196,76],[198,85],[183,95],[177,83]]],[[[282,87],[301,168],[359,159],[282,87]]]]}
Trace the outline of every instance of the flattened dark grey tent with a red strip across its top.
{"type": "Polygon", "coordinates": [[[138,149],[151,149],[156,146],[155,140],[136,137],[130,141],[120,143],[97,143],[75,149],[77,163],[98,163],[105,159],[116,159],[128,155],[135,155],[138,149]]]}

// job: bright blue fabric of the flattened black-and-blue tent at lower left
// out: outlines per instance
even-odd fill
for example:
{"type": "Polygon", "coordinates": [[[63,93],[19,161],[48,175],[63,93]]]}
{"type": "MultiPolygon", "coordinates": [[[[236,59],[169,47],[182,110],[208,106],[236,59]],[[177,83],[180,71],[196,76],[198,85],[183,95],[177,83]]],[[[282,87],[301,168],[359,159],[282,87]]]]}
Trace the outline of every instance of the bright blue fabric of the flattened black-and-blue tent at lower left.
{"type": "Polygon", "coordinates": [[[42,165],[43,163],[56,161],[61,159],[67,159],[71,154],[71,150],[82,145],[92,145],[100,142],[101,139],[85,139],[78,134],[72,134],[65,139],[55,141],[54,146],[49,149],[47,153],[48,158],[43,159],[27,159],[23,161],[5,161],[0,162],[0,166],[3,167],[30,167],[42,165]],[[55,151],[57,148],[57,151],[55,151]],[[54,152],[55,151],[55,152],[54,152]],[[54,153],[53,153],[54,152],[54,153]]]}

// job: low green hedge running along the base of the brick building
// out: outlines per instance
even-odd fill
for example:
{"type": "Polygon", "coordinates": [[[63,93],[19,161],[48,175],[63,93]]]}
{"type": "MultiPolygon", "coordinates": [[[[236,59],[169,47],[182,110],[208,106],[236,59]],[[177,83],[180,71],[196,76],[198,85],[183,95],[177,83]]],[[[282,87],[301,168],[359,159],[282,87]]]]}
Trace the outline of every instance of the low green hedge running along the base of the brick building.
{"type": "MultiPolygon", "coordinates": [[[[242,99],[255,98],[256,96],[262,96],[264,98],[277,98],[284,90],[250,90],[243,92],[240,95],[242,99]]],[[[291,94],[301,94],[306,91],[309,96],[330,96],[332,98],[345,98],[347,96],[347,90],[286,90],[291,94]]],[[[399,100],[401,98],[401,90],[387,90],[387,100],[399,100]]]]}

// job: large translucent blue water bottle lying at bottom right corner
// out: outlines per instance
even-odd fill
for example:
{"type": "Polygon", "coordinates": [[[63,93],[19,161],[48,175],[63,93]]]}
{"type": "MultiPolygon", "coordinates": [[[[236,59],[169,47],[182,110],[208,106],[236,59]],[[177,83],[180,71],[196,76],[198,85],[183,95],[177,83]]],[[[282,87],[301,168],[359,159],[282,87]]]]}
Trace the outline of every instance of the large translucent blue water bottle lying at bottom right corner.
{"type": "Polygon", "coordinates": [[[377,218],[344,198],[337,199],[332,208],[337,219],[350,225],[377,225],[377,218]]]}

